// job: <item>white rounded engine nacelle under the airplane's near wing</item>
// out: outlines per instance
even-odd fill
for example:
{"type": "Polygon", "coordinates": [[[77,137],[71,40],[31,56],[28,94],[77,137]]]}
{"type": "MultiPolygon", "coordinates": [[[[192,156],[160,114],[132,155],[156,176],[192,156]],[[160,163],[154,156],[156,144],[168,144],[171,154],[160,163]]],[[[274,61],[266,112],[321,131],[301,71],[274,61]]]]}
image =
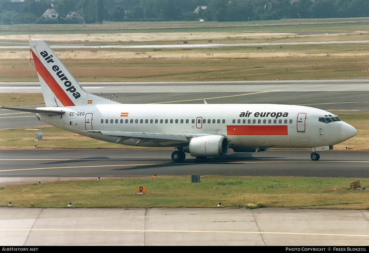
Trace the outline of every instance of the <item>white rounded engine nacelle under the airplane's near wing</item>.
{"type": "Polygon", "coordinates": [[[229,143],[224,136],[206,135],[192,138],[188,149],[196,157],[227,155],[229,143]]]}

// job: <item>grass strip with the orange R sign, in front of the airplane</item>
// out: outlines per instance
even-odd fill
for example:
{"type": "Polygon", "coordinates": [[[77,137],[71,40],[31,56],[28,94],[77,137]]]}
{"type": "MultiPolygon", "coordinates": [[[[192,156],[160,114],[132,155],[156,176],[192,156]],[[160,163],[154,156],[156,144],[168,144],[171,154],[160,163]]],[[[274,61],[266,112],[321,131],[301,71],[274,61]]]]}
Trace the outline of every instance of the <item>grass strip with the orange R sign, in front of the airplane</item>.
{"type": "MultiPolygon", "coordinates": [[[[189,176],[58,181],[0,188],[0,206],[63,208],[304,207],[367,209],[369,192],[350,190],[356,179],[189,176]],[[146,186],[147,194],[136,194],[146,186]]],[[[369,179],[361,179],[367,186],[369,179]]]]}

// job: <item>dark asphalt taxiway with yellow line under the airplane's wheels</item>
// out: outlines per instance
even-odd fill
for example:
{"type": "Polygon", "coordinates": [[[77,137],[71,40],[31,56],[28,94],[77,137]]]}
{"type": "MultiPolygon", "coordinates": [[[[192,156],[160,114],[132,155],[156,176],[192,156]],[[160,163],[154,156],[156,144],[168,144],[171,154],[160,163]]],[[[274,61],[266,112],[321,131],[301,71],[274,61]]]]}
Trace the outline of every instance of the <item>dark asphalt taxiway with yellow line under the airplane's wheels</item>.
{"type": "MultiPolygon", "coordinates": [[[[32,177],[35,182],[61,177],[138,176],[300,176],[368,178],[367,151],[321,153],[310,160],[310,150],[267,150],[258,153],[230,152],[224,157],[197,160],[187,154],[183,163],[174,163],[174,149],[70,149],[0,150],[0,185],[7,178],[32,177]],[[43,178],[39,180],[39,178],[43,178]],[[2,180],[2,181],[1,181],[2,180]]],[[[22,181],[22,180],[20,180],[22,181]]],[[[33,181],[31,181],[33,182],[33,181]]]]}

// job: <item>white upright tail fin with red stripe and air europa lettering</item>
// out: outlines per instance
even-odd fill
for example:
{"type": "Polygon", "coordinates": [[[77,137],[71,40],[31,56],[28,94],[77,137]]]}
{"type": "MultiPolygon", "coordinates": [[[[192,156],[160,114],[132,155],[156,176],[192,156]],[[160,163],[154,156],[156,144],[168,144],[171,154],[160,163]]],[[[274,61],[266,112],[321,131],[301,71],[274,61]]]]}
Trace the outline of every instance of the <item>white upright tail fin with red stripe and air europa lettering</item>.
{"type": "Polygon", "coordinates": [[[43,40],[30,40],[46,107],[119,104],[86,92],[43,40]]]}

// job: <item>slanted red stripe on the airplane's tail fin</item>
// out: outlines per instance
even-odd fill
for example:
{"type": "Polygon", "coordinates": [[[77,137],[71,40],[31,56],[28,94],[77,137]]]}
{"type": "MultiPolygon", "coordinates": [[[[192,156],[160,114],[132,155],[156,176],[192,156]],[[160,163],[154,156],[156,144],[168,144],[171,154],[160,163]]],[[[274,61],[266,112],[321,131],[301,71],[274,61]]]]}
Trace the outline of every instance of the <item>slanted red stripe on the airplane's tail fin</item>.
{"type": "Polygon", "coordinates": [[[59,86],[58,82],[54,79],[54,77],[50,74],[50,72],[46,69],[46,67],[41,63],[40,59],[38,59],[37,55],[33,52],[33,61],[35,62],[37,73],[44,79],[47,85],[50,87],[52,92],[56,95],[59,101],[64,106],[73,106],[75,105],[72,100],[68,97],[62,87],[59,86]]]}

